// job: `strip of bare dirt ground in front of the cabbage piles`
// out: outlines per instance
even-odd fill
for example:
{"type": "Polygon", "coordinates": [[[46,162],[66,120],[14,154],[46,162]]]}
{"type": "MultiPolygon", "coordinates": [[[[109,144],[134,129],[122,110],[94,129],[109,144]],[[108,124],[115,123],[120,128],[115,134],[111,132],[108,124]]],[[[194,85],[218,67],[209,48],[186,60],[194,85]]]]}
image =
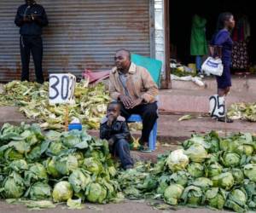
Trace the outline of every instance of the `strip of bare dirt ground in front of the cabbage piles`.
{"type": "Polygon", "coordinates": [[[85,204],[83,210],[68,210],[65,205],[58,205],[55,209],[48,210],[28,210],[23,205],[7,204],[3,200],[0,201],[0,213],[216,213],[216,212],[228,212],[228,211],[216,211],[208,209],[189,209],[178,208],[178,210],[154,210],[154,208],[148,205],[145,201],[125,201],[120,204],[85,204]]]}

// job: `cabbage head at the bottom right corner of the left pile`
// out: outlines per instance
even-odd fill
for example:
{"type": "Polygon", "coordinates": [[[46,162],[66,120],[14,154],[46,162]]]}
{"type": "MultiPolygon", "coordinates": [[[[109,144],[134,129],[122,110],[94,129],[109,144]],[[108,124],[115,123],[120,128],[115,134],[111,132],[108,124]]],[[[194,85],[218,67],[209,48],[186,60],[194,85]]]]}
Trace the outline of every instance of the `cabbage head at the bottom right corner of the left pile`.
{"type": "Polygon", "coordinates": [[[107,190],[105,187],[102,187],[101,184],[92,182],[86,188],[85,195],[86,199],[91,203],[103,204],[107,197],[107,190]]]}

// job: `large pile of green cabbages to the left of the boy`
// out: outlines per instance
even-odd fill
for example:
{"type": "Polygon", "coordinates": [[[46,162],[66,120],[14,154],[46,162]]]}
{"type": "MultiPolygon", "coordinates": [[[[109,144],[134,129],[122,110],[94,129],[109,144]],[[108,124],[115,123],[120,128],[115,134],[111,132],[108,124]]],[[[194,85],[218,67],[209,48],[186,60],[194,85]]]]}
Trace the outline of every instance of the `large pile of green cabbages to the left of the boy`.
{"type": "Polygon", "coordinates": [[[86,131],[4,124],[0,132],[2,199],[105,204],[118,197],[115,176],[108,141],[86,131]]]}

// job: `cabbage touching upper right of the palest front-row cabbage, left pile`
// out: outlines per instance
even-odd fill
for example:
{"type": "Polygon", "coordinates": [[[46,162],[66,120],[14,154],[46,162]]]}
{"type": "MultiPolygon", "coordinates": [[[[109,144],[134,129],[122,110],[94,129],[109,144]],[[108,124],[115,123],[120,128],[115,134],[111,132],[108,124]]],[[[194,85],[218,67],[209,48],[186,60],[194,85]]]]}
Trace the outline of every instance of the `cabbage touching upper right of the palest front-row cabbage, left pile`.
{"type": "Polygon", "coordinates": [[[75,193],[79,193],[81,190],[85,190],[85,187],[90,183],[90,175],[83,170],[73,170],[72,174],[68,177],[68,181],[73,187],[75,193]]]}

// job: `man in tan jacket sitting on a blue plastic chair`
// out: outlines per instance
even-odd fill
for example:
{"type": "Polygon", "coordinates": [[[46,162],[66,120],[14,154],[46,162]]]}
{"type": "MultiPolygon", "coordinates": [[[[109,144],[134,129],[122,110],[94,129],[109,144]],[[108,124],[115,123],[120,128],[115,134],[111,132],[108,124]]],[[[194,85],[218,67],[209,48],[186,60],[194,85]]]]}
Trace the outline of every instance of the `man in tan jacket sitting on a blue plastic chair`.
{"type": "Polygon", "coordinates": [[[111,98],[121,102],[121,116],[128,119],[131,114],[143,118],[143,132],[140,138],[142,151],[148,151],[148,141],[157,116],[155,96],[157,85],[147,69],[131,62],[128,50],[120,49],[114,57],[115,67],[109,75],[111,98]]]}

